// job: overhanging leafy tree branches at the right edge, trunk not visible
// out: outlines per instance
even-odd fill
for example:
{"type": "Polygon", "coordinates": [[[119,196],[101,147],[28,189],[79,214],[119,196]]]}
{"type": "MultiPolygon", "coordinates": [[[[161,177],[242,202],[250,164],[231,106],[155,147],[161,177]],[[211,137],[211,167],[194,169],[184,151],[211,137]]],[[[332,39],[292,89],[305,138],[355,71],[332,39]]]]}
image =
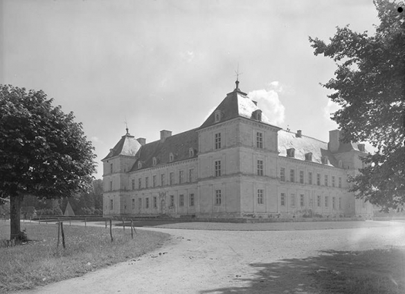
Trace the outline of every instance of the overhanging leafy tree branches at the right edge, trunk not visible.
{"type": "Polygon", "coordinates": [[[377,150],[363,158],[352,191],[388,210],[405,202],[405,12],[390,1],[374,3],[380,21],[374,34],[346,26],[328,44],[309,41],[315,55],[336,62],[335,77],[323,86],[334,90],[328,97],[341,107],[332,120],[343,140],[368,141],[377,150]]]}

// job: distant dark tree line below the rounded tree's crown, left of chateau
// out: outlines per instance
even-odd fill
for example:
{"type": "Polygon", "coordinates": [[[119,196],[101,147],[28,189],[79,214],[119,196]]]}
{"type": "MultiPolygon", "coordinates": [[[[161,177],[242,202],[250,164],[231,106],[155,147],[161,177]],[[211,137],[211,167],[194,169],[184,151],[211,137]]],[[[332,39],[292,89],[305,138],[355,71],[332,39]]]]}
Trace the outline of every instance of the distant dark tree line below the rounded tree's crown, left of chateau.
{"type": "Polygon", "coordinates": [[[93,181],[90,192],[81,192],[72,197],[62,199],[39,199],[36,196],[24,196],[21,208],[33,207],[39,215],[62,215],[66,206],[71,203],[75,215],[101,215],[102,214],[102,180],[93,181]]]}

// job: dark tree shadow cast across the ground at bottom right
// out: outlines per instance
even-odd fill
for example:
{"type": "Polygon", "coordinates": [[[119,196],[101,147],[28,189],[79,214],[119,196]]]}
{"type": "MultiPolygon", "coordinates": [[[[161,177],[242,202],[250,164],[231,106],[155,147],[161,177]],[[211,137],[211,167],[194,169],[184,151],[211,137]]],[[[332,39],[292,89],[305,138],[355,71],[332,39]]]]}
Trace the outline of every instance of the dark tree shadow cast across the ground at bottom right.
{"type": "Polygon", "coordinates": [[[250,264],[253,278],[233,276],[235,286],[199,293],[405,293],[405,250],[322,251],[306,259],[250,264]],[[240,286],[238,286],[238,284],[240,286]]]}

